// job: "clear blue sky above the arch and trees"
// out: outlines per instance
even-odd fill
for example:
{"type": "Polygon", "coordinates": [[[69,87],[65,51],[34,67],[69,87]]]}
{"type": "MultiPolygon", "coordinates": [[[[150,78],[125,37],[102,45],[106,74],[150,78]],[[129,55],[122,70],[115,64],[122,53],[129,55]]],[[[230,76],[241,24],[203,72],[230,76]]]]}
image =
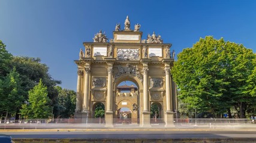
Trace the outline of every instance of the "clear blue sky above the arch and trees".
{"type": "Polygon", "coordinates": [[[256,52],[256,1],[0,0],[0,39],[13,55],[40,57],[62,88],[76,90],[83,42],[99,30],[111,39],[116,23],[141,24],[143,39],[155,31],[176,54],[212,35],[256,52]]]}

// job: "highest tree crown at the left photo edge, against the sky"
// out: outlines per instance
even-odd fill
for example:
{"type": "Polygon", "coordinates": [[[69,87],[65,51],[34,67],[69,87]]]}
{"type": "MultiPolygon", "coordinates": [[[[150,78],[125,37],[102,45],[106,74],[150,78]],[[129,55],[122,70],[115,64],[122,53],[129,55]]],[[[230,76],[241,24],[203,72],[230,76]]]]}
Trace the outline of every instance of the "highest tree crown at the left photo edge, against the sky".
{"type": "Polygon", "coordinates": [[[6,46],[0,40],[0,79],[9,73],[10,60],[12,55],[7,51],[6,46]]]}

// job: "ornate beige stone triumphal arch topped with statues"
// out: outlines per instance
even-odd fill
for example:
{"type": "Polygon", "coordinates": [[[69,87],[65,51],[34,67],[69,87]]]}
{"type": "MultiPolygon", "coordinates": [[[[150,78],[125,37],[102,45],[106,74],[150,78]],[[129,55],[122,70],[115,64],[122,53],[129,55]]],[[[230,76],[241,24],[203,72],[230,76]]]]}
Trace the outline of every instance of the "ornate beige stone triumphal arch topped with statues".
{"type": "Polygon", "coordinates": [[[163,43],[161,36],[153,32],[141,39],[140,24],[131,29],[129,17],[124,30],[116,24],[113,39],[108,39],[101,30],[94,35],[94,42],[84,42],[85,52],[80,49],[77,64],[76,117],[94,118],[95,104],[105,106],[106,126],[113,126],[119,109],[131,110],[132,123],[150,126],[150,105],[161,107],[161,119],[165,126],[173,126],[174,110],[177,110],[176,84],[170,69],[174,51],[170,43],[163,43]],[[119,83],[134,82],[134,89],[121,93],[119,83]]]}

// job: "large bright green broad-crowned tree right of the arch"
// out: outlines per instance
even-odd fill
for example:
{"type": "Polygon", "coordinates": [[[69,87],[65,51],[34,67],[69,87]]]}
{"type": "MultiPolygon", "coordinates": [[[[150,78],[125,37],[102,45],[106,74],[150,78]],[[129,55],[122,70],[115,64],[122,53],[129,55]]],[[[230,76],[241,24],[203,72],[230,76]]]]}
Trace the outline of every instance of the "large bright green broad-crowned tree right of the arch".
{"type": "Polygon", "coordinates": [[[251,91],[256,80],[249,80],[255,68],[251,49],[206,36],[192,48],[183,49],[177,58],[171,73],[180,89],[179,99],[188,108],[216,117],[228,112],[231,117],[233,106],[245,117],[248,105],[255,101],[251,91]]]}

